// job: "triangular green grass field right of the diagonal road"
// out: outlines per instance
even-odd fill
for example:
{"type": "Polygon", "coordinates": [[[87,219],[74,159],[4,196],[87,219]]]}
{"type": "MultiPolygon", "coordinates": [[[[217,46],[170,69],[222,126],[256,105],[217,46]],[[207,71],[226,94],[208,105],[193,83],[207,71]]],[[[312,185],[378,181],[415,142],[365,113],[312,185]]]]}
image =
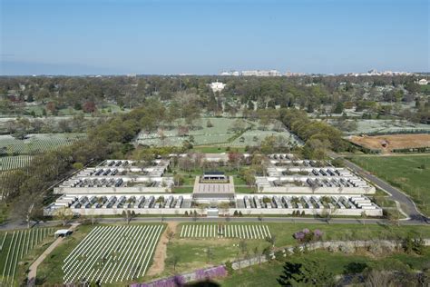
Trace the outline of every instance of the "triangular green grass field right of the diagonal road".
{"type": "Polygon", "coordinates": [[[355,156],[352,161],[409,194],[430,215],[430,155],[355,156]]]}

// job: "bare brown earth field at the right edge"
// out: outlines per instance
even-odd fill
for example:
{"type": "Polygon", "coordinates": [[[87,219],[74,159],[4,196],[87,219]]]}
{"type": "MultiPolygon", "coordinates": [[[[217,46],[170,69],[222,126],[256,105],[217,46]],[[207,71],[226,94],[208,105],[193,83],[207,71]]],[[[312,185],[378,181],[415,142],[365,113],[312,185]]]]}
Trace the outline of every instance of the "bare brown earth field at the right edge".
{"type": "Polygon", "coordinates": [[[430,146],[430,134],[353,135],[349,141],[366,148],[390,153],[393,149],[430,146]]]}

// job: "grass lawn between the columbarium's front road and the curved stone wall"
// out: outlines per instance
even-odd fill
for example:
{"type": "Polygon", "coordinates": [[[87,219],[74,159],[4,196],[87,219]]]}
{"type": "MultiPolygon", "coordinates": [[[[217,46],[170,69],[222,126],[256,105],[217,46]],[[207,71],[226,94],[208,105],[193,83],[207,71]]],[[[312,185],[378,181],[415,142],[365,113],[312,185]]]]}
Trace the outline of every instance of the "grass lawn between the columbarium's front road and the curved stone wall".
{"type": "MultiPolygon", "coordinates": [[[[173,267],[166,264],[166,270],[163,275],[172,275],[175,272],[188,272],[194,269],[207,267],[210,265],[221,264],[227,261],[234,261],[242,258],[244,255],[240,253],[239,238],[189,238],[181,237],[181,228],[190,223],[178,225],[175,237],[168,245],[168,258],[179,256],[181,259],[176,266],[176,271],[173,267]],[[208,249],[210,249],[210,257],[208,257],[208,249]]],[[[194,223],[196,225],[209,225],[209,223],[194,223]]],[[[222,223],[222,224],[237,224],[237,223],[222,223]]],[[[430,237],[430,229],[426,226],[394,226],[394,225],[357,225],[357,224],[308,224],[308,223],[256,223],[255,225],[267,225],[270,234],[275,237],[275,246],[291,246],[297,243],[293,234],[308,228],[310,230],[319,229],[323,232],[322,239],[329,240],[372,240],[372,239],[395,239],[406,237],[409,233],[418,234],[424,238],[430,237]]],[[[252,255],[256,248],[262,251],[270,245],[264,239],[246,239],[246,250],[252,255]]],[[[353,260],[351,258],[351,260],[353,260]]],[[[169,260],[168,260],[169,261],[169,260]]],[[[333,262],[335,264],[335,262],[333,262]]]]}

